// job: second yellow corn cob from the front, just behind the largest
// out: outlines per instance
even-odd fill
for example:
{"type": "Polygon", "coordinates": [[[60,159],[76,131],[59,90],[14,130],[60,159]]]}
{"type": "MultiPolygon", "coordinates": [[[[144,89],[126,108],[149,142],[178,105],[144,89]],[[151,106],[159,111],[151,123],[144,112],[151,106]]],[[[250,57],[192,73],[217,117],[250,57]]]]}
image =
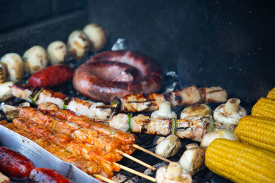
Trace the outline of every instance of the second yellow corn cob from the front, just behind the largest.
{"type": "Polygon", "coordinates": [[[235,134],[242,142],[275,153],[275,120],[273,119],[256,116],[243,117],[235,129],[235,134]]]}

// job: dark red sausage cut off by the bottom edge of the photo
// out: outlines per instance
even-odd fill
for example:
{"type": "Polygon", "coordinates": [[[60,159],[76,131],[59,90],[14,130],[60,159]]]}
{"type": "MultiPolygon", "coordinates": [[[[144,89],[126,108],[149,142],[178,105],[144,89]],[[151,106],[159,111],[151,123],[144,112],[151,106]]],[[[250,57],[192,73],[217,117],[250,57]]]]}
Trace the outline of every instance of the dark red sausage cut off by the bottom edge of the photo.
{"type": "Polygon", "coordinates": [[[68,178],[59,174],[57,171],[46,168],[35,168],[30,172],[28,182],[54,182],[54,183],[72,183],[68,178]]]}

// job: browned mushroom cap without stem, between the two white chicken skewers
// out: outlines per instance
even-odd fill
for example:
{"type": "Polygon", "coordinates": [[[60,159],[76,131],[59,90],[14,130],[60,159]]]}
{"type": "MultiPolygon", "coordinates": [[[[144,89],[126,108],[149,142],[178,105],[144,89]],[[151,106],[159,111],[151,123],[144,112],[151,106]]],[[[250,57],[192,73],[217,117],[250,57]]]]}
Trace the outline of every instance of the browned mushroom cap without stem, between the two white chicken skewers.
{"type": "Polygon", "coordinates": [[[209,106],[203,103],[187,106],[184,110],[181,111],[181,119],[184,119],[188,116],[199,115],[201,117],[205,117],[206,115],[211,115],[212,110],[209,106]]]}

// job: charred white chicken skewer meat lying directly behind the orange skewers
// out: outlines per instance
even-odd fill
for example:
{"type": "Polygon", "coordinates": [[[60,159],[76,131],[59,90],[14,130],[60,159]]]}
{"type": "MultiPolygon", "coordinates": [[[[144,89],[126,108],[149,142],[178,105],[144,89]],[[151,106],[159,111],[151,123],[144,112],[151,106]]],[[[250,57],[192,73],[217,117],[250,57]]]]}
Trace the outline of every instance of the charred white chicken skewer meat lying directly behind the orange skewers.
{"type": "Polygon", "coordinates": [[[33,88],[28,85],[14,84],[12,86],[12,95],[19,97],[34,104],[52,102],[58,105],[59,108],[66,108],[76,112],[77,115],[85,115],[94,119],[109,119],[111,109],[99,109],[96,106],[102,106],[104,103],[92,102],[67,97],[63,93],[57,93],[53,90],[33,88]]]}

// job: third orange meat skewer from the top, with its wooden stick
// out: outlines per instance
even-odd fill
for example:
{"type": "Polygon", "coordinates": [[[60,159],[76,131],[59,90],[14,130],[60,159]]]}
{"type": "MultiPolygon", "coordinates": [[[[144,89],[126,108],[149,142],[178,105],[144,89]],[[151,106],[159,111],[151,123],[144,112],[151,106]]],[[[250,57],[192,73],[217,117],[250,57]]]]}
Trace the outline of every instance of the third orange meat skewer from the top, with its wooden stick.
{"type": "Polygon", "coordinates": [[[61,146],[72,154],[77,154],[78,156],[82,156],[83,158],[86,158],[88,160],[95,160],[103,167],[104,172],[107,173],[107,175],[109,176],[113,175],[113,171],[120,171],[120,169],[124,169],[136,175],[142,176],[142,178],[146,178],[155,182],[155,178],[151,178],[148,175],[116,163],[115,157],[112,156],[111,153],[106,154],[106,152],[102,151],[101,149],[94,148],[93,145],[87,145],[85,143],[74,141],[67,134],[53,133],[52,130],[48,129],[47,127],[43,125],[37,125],[32,121],[24,122],[21,119],[14,119],[13,122],[15,126],[23,127],[24,129],[26,129],[26,131],[32,132],[39,138],[44,138],[43,140],[48,141],[49,143],[54,143],[58,146],[61,146]]]}

